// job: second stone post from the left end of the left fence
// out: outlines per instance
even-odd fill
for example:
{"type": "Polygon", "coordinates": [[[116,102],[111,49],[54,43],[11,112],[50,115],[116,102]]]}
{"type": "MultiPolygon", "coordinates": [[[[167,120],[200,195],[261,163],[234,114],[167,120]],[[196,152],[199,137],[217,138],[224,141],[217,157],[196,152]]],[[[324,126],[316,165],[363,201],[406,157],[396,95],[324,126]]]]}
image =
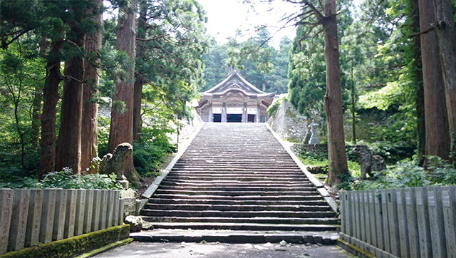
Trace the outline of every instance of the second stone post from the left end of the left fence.
{"type": "Polygon", "coordinates": [[[14,190],[11,226],[9,227],[9,251],[17,251],[24,248],[28,202],[30,202],[30,189],[14,190]]]}

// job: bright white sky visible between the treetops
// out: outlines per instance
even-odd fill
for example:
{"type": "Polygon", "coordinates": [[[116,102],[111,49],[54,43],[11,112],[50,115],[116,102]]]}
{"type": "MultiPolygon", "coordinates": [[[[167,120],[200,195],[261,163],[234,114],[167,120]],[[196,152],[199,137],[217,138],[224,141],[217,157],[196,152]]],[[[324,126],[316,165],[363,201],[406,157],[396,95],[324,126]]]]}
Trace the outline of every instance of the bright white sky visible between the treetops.
{"type": "MultiPolygon", "coordinates": [[[[284,22],[279,22],[284,15],[293,14],[299,6],[284,1],[272,1],[271,5],[256,4],[254,10],[242,0],[197,0],[206,11],[207,34],[214,36],[217,43],[226,43],[228,37],[235,37],[240,29],[244,37],[237,36],[237,41],[245,41],[251,36],[256,36],[255,26],[266,25],[269,33],[274,35],[269,46],[279,49],[282,37],[288,36],[291,40],[296,36],[294,26],[279,29],[284,22]]],[[[354,0],[355,5],[362,0],[354,0]]]]}

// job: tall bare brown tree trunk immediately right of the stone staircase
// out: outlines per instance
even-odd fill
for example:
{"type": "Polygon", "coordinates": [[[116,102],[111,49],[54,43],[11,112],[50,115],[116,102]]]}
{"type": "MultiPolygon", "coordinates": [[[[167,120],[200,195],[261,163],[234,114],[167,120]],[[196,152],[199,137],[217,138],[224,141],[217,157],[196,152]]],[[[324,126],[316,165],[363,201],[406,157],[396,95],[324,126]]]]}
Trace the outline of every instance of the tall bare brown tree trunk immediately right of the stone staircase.
{"type": "Polygon", "coordinates": [[[336,0],[325,0],[325,62],[326,95],[324,105],[328,128],[328,185],[335,186],[348,175],[345,138],[343,133],[343,110],[341,69],[337,36],[336,0]]]}

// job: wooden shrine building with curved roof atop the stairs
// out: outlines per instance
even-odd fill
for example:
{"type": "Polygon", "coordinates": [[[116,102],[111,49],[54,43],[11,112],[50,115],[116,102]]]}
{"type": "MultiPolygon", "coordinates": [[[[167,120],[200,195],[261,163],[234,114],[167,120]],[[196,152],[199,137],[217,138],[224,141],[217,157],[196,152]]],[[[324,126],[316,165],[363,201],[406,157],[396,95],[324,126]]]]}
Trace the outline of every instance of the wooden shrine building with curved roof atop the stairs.
{"type": "Polygon", "coordinates": [[[266,109],[276,93],[265,93],[246,81],[237,70],[209,91],[199,93],[198,115],[204,122],[266,123],[266,109]]]}

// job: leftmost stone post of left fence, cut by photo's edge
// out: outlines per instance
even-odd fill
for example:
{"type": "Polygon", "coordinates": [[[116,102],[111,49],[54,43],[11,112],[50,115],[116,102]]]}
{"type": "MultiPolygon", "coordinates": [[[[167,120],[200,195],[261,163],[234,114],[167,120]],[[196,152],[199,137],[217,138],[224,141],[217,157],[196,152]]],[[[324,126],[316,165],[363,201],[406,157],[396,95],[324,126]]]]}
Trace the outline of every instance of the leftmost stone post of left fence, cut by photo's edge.
{"type": "Polygon", "coordinates": [[[13,198],[14,190],[0,189],[0,254],[4,254],[8,251],[13,198]]]}

